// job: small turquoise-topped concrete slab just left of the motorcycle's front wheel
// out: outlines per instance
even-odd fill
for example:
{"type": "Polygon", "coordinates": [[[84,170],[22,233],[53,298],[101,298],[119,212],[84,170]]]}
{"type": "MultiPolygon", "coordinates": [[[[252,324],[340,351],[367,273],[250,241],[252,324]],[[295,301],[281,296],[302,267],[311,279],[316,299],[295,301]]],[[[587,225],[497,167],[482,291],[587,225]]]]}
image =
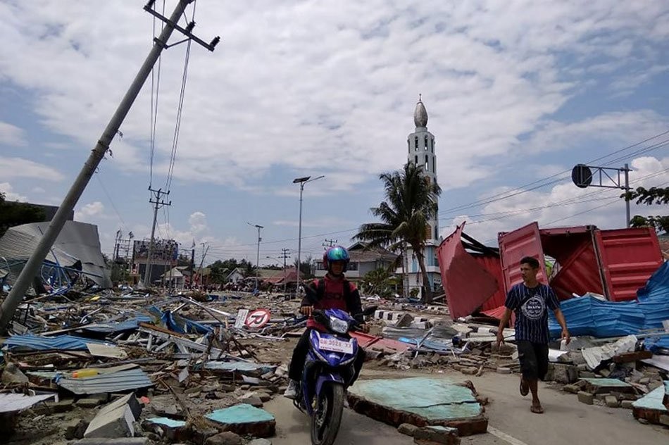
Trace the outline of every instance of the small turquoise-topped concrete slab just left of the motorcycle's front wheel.
{"type": "Polygon", "coordinates": [[[215,422],[215,425],[224,432],[270,437],[273,436],[276,429],[276,420],[273,415],[248,403],[215,410],[205,417],[215,422]]]}

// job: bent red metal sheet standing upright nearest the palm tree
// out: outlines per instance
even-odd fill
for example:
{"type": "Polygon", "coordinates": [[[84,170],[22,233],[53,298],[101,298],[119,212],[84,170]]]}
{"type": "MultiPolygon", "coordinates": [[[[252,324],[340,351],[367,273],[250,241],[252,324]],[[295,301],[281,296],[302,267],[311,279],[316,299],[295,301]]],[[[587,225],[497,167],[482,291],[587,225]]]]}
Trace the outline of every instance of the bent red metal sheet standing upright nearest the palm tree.
{"type": "Polygon", "coordinates": [[[497,280],[462,246],[464,224],[437,249],[439,270],[451,318],[470,315],[499,289],[497,280]]]}

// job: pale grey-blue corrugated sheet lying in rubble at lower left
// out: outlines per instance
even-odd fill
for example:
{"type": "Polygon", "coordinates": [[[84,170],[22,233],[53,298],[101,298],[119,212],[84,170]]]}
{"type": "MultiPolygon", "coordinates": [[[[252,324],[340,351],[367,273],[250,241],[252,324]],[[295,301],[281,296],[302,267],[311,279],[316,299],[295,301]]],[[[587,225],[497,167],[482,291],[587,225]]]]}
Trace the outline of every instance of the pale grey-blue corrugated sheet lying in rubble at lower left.
{"type": "Polygon", "coordinates": [[[94,377],[72,379],[61,377],[58,386],[75,394],[100,394],[103,392],[120,392],[131,389],[151,387],[149,376],[139,368],[101,374],[94,377]]]}

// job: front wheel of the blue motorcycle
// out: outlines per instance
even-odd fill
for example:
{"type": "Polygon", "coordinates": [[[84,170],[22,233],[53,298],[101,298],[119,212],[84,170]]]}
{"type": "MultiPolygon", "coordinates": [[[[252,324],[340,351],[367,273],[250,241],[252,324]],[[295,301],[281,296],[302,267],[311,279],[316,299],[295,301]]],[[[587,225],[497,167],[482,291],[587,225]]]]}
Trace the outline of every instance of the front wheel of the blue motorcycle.
{"type": "Polygon", "coordinates": [[[311,443],[332,445],[337,439],[344,410],[344,385],[326,384],[320,391],[311,415],[311,443]]]}

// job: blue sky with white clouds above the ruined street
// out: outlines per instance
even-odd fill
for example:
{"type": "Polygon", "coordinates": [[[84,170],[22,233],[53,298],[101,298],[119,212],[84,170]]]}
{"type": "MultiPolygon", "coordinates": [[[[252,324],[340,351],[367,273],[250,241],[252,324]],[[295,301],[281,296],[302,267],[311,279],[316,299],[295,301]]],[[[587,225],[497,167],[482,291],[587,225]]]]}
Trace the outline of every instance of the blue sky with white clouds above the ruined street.
{"type": "MultiPolygon", "coordinates": [[[[170,15],[175,0],[156,1],[170,15]]],[[[58,204],[160,31],[143,1],[2,0],[0,191],[58,204]]],[[[379,173],[406,162],[418,94],[436,139],[440,225],[495,243],[534,220],[621,227],[611,189],[577,189],[575,163],[669,184],[669,4],[662,1],[199,0],[197,44],[168,181],[187,45],[163,52],[76,207],[148,236],[147,188],[170,182],[158,234],[207,260],[261,263],[350,244],[382,199],[379,173]],[[153,101],[152,101],[153,98],[153,101]],[[154,105],[153,107],[151,105],[154,105]],[[151,166],[152,108],[156,123],[151,166]],[[566,172],[566,173],[565,173],[566,172]]],[[[182,18],[185,25],[185,18],[182,18]]],[[[170,42],[177,42],[177,35],[170,42]]],[[[632,208],[634,214],[663,209],[632,208]]]]}

